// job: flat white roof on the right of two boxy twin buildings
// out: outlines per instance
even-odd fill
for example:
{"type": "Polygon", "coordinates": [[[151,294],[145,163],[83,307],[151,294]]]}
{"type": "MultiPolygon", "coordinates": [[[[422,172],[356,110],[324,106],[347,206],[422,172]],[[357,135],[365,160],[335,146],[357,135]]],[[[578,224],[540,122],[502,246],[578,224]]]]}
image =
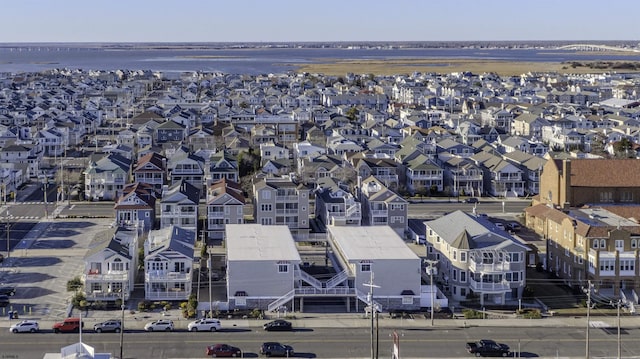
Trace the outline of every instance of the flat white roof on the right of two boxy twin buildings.
{"type": "Polygon", "coordinates": [[[348,260],[420,258],[389,226],[331,227],[331,240],[348,260]]]}

